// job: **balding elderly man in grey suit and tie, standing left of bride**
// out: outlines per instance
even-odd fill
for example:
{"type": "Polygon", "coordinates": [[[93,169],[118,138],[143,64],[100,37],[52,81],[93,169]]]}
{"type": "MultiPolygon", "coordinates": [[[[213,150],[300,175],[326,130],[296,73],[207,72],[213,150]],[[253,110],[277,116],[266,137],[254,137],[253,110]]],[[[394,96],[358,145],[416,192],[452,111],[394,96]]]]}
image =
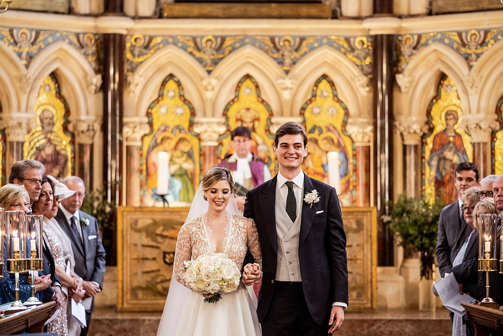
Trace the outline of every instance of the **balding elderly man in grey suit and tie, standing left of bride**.
{"type": "Polygon", "coordinates": [[[96,218],[80,211],[86,194],[84,181],[80,177],[70,176],[62,182],[68,189],[75,190],[75,193],[59,203],[55,218],[71,240],[75,256],[74,271],[82,278],[82,287],[86,291],[83,304],[86,307],[87,326],[80,333],[80,336],[86,336],[91,313],[94,311],[94,296],[103,289],[105,248],[101,242],[96,218]]]}

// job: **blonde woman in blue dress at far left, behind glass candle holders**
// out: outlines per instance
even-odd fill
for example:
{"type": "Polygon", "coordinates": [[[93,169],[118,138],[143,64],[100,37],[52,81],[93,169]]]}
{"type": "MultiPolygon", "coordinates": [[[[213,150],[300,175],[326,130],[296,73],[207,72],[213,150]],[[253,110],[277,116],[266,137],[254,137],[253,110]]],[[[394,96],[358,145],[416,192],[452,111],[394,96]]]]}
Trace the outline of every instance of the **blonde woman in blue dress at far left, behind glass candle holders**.
{"type": "MultiPolygon", "coordinates": [[[[30,196],[25,187],[16,184],[7,184],[0,188],[0,207],[6,211],[30,210],[30,196]]],[[[2,242],[5,247],[5,241],[2,242]]],[[[4,256],[7,258],[6,256],[4,256]]],[[[19,298],[22,302],[31,296],[31,285],[27,282],[28,273],[21,273],[19,277],[19,298]]],[[[37,293],[51,286],[50,276],[35,277],[37,293]]],[[[7,273],[7,262],[4,260],[4,278],[0,279],[0,304],[16,300],[14,274],[7,273]]],[[[41,299],[41,297],[39,297],[41,299]]]]}

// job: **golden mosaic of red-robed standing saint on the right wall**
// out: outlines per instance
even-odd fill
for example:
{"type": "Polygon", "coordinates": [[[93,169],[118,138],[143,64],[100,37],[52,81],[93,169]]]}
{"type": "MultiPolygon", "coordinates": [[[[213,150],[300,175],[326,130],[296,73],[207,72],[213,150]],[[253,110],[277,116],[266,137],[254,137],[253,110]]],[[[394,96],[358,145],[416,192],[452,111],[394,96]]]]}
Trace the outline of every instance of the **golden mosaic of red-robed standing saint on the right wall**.
{"type": "Polygon", "coordinates": [[[471,137],[459,127],[463,112],[458,90],[446,75],[437,92],[427,111],[431,131],[423,136],[423,188],[429,201],[441,197],[444,203],[451,204],[458,199],[456,167],[472,161],[472,145],[471,137]]]}

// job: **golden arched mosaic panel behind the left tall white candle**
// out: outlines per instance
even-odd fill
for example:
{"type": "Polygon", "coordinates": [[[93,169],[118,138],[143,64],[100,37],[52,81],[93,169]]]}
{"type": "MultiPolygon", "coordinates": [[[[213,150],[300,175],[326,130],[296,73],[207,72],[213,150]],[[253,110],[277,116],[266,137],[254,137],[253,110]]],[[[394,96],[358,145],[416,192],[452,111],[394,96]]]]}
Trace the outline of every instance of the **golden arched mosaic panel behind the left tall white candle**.
{"type": "Polygon", "coordinates": [[[151,130],[143,138],[142,204],[167,201],[189,205],[199,185],[200,148],[198,134],[192,130],[195,110],[177,77],[169,75],[164,79],[147,116],[151,130]],[[160,153],[167,153],[167,157],[160,153]],[[167,176],[161,178],[159,161],[164,159],[168,168],[162,174],[167,176]],[[160,181],[167,186],[159,188],[160,181]]]}

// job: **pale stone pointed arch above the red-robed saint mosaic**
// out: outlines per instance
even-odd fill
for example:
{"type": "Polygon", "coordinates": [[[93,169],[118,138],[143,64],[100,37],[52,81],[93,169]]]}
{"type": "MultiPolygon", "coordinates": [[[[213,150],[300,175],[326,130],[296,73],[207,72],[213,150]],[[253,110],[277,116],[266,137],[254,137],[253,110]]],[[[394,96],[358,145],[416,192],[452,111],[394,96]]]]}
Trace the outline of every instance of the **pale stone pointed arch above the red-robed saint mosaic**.
{"type": "Polygon", "coordinates": [[[466,60],[452,48],[441,43],[433,43],[415,55],[403,74],[397,75],[397,81],[404,94],[402,99],[404,115],[426,121],[426,110],[435,96],[441,74],[446,74],[456,85],[463,115],[471,113],[471,97],[465,82],[469,75],[466,60]]]}

